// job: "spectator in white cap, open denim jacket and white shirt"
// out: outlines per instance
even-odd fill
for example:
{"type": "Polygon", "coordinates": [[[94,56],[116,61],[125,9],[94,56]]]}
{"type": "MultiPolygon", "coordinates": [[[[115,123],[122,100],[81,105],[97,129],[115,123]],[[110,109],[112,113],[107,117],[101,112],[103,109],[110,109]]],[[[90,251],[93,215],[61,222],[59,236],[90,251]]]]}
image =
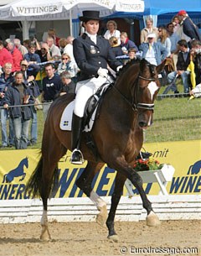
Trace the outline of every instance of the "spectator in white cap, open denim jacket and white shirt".
{"type": "Polygon", "coordinates": [[[150,33],[147,35],[147,43],[142,43],[139,50],[142,50],[142,59],[146,59],[152,65],[160,65],[168,55],[168,50],[158,42],[154,42],[156,34],[150,33]]]}

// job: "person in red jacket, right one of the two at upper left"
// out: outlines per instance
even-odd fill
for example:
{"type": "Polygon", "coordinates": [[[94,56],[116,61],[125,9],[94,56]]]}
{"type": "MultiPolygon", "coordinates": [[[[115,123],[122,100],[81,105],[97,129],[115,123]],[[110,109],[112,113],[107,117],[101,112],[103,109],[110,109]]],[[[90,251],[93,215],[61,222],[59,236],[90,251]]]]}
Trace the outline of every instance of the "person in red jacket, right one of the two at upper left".
{"type": "Polygon", "coordinates": [[[9,50],[9,52],[13,57],[13,67],[14,67],[13,71],[20,71],[21,70],[20,61],[23,60],[23,55],[17,49],[17,47],[13,44],[11,39],[6,39],[6,43],[7,43],[7,49],[9,50]]]}

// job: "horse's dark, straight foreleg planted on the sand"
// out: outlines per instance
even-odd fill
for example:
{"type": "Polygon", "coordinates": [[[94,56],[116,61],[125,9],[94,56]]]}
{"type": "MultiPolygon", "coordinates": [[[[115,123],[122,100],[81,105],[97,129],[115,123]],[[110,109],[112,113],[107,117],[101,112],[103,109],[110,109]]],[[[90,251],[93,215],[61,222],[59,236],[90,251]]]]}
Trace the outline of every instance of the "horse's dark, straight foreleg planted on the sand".
{"type": "Polygon", "coordinates": [[[115,225],[114,225],[114,220],[115,220],[115,215],[116,215],[116,207],[119,204],[119,201],[121,199],[121,193],[123,191],[123,186],[125,183],[126,177],[124,175],[121,175],[120,172],[116,173],[116,183],[115,183],[115,188],[114,192],[111,196],[111,209],[106,221],[106,226],[109,231],[108,238],[112,239],[113,241],[117,242],[118,241],[118,236],[115,232],[115,225]]]}

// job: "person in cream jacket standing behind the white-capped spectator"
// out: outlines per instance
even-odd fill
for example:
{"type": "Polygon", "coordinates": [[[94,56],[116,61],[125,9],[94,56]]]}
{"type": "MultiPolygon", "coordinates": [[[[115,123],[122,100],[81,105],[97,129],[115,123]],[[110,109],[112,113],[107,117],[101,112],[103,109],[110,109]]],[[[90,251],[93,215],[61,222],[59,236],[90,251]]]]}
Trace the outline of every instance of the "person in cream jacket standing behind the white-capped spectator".
{"type": "Polygon", "coordinates": [[[147,43],[147,34],[155,34],[154,41],[157,42],[157,28],[153,27],[153,20],[152,18],[148,17],[146,18],[146,27],[141,30],[141,44],[147,43]]]}

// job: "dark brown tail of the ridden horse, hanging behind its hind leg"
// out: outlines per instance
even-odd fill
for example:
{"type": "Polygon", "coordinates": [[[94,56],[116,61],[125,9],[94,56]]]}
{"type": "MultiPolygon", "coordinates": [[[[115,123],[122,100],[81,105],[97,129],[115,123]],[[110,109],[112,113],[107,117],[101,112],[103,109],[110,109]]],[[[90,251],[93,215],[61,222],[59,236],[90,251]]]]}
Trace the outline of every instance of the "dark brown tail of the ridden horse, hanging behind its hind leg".
{"type": "MultiPolygon", "coordinates": [[[[33,170],[33,174],[29,178],[25,192],[32,197],[41,196],[41,186],[42,186],[42,171],[43,171],[43,157],[39,159],[39,164],[36,166],[35,170],[33,170]]],[[[54,169],[54,175],[52,178],[51,190],[49,191],[49,195],[54,196],[56,194],[58,188],[59,181],[59,172],[58,168],[54,169]]]]}

